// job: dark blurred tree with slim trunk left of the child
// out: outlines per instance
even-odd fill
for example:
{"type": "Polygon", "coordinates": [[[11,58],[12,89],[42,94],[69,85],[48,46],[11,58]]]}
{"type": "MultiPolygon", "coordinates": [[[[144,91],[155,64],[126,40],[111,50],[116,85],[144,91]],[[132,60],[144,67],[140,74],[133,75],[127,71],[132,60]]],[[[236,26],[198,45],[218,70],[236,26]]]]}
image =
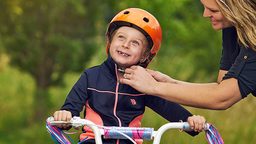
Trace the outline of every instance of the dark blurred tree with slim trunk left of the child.
{"type": "Polygon", "coordinates": [[[62,84],[68,71],[82,72],[105,39],[105,7],[102,0],[0,1],[4,52],[36,80],[38,119],[46,111],[47,88],[62,84]]]}

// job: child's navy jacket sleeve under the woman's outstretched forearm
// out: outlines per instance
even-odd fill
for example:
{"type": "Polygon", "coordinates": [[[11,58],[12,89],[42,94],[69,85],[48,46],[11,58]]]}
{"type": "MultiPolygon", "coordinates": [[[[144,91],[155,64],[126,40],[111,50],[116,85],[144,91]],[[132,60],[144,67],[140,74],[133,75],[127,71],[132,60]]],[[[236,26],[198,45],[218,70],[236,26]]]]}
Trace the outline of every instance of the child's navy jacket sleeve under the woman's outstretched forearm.
{"type": "MultiPolygon", "coordinates": [[[[158,113],[160,116],[165,118],[170,122],[187,121],[188,117],[193,116],[188,110],[179,104],[164,100],[163,98],[147,95],[146,96],[146,106],[152,109],[154,112],[158,113]]],[[[186,132],[189,135],[195,136],[199,132],[191,131],[186,132]]]]}

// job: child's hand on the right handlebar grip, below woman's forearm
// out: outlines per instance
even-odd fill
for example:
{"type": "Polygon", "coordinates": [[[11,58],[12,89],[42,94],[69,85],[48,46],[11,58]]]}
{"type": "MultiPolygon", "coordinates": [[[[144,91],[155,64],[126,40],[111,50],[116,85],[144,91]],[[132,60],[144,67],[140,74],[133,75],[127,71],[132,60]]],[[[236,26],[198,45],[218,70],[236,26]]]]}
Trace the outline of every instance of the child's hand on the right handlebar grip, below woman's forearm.
{"type": "Polygon", "coordinates": [[[190,116],[188,117],[188,123],[190,128],[194,129],[195,132],[201,132],[205,128],[206,120],[203,116],[190,116]]]}

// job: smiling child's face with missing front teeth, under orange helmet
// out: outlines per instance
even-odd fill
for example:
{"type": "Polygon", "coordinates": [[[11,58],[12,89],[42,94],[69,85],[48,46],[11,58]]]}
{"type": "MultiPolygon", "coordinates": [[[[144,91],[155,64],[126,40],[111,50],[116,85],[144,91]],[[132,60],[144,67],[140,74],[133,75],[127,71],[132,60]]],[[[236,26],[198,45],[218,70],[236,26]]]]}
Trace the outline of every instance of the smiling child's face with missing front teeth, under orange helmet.
{"type": "Polygon", "coordinates": [[[147,39],[135,28],[122,26],[116,31],[111,42],[109,53],[113,60],[122,67],[137,65],[146,56],[147,39]]]}

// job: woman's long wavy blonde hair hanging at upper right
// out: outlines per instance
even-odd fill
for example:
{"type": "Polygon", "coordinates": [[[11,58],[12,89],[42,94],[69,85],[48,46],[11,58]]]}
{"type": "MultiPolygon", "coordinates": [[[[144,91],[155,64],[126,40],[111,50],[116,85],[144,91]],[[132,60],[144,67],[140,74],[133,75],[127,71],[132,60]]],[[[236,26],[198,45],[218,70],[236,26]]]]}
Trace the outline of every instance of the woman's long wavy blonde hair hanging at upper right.
{"type": "Polygon", "coordinates": [[[238,43],[256,51],[256,0],[215,0],[222,16],[235,26],[238,43]]]}

